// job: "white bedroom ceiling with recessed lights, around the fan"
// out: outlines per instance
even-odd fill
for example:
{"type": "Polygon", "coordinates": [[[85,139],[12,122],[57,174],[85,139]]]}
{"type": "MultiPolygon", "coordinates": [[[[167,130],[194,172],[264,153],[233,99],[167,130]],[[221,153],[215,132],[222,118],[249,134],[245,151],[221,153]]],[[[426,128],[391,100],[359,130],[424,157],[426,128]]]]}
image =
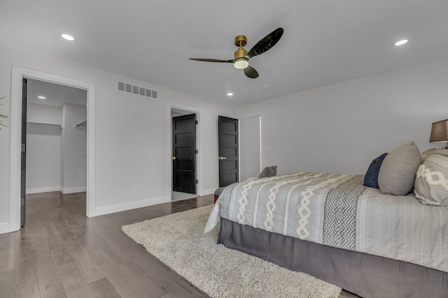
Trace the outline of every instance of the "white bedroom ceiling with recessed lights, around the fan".
{"type": "Polygon", "coordinates": [[[238,106],[447,57],[447,13],[447,0],[1,1],[0,41],[238,106]],[[259,78],[188,59],[232,59],[235,36],[250,50],[277,27],[250,61],[259,78]]]}

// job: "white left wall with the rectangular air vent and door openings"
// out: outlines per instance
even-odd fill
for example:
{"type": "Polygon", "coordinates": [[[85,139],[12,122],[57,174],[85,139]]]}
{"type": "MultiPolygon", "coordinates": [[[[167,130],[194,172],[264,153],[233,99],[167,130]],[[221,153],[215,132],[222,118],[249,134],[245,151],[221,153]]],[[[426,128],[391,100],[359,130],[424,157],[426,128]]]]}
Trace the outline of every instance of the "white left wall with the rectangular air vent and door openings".
{"type": "MultiPolygon", "coordinates": [[[[200,108],[203,111],[202,189],[218,187],[218,115],[232,115],[232,108],[190,97],[163,87],[124,78],[81,64],[45,55],[15,45],[0,43],[1,111],[10,111],[12,65],[80,80],[96,87],[96,214],[120,211],[169,201],[167,171],[170,143],[167,139],[167,103],[200,108]],[[158,90],[159,99],[139,97],[116,90],[117,81],[158,90]],[[139,190],[134,191],[134,184],[139,190]]],[[[5,112],[3,112],[5,113],[5,112]]],[[[0,131],[0,232],[9,220],[10,130],[0,131]]],[[[168,176],[169,177],[169,176],[168,176]]]]}

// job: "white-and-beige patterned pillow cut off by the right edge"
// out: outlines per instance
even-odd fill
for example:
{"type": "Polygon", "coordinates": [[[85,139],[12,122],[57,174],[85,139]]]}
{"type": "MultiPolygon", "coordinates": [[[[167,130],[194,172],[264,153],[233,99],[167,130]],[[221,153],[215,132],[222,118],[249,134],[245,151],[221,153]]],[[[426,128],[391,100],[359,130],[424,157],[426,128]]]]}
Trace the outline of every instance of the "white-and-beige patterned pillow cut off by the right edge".
{"type": "Polygon", "coordinates": [[[415,197],[422,204],[448,206],[448,150],[428,155],[415,178],[415,197]]]}

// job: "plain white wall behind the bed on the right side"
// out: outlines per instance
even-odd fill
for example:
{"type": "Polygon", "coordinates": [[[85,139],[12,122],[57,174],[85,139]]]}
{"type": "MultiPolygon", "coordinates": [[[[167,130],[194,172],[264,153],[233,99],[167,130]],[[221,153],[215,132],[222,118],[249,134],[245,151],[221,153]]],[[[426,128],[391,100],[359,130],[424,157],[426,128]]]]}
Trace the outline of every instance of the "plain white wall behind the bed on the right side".
{"type": "Polygon", "coordinates": [[[365,173],[374,157],[405,141],[421,151],[431,123],[448,118],[448,59],[235,108],[262,112],[265,165],[279,173],[365,173]]]}

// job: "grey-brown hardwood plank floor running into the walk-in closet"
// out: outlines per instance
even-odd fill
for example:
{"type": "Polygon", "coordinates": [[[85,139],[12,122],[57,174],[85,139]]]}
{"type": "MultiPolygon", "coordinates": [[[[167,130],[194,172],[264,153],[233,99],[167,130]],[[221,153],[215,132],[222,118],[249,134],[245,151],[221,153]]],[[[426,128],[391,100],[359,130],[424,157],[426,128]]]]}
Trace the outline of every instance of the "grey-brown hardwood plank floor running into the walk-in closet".
{"type": "Polygon", "coordinates": [[[213,202],[211,194],[86,218],[85,193],[29,194],[25,227],[0,234],[0,297],[208,297],[121,226],[213,202]]]}

